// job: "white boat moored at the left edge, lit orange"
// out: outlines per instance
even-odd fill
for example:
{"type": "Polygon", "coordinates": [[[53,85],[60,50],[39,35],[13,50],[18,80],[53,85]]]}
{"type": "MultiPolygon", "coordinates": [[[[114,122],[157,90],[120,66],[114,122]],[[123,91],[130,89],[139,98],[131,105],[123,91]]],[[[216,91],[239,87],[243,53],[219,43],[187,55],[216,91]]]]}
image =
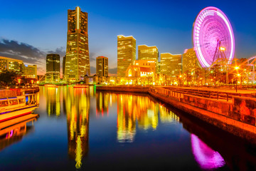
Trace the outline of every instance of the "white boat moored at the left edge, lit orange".
{"type": "Polygon", "coordinates": [[[32,95],[21,95],[13,98],[0,98],[0,123],[6,120],[21,117],[30,114],[34,109],[38,108],[35,98],[31,98],[30,102],[26,102],[26,97],[32,95]]]}

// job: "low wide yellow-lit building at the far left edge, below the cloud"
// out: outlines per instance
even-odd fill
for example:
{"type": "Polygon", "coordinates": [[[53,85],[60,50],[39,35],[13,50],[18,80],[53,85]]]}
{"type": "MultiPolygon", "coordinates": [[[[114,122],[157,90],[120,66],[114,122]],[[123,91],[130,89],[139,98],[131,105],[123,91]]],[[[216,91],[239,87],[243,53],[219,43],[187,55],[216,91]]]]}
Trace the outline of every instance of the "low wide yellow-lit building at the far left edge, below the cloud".
{"type": "Polygon", "coordinates": [[[0,56],[0,72],[4,70],[22,73],[23,61],[0,56]]]}

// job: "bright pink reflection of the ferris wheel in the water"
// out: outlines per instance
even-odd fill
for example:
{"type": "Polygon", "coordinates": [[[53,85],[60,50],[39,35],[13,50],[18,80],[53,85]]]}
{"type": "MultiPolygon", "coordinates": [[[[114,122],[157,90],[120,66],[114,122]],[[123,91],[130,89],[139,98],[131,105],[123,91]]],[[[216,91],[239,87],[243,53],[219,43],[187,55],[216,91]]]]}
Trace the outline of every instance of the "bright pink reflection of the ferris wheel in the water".
{"type": "Polygon", "coordinates": [[[212,150],[194,134],[191,134],[191,147],[195,160],[201,169],[213,170],[225,165],[220,153],[212,150]]]}

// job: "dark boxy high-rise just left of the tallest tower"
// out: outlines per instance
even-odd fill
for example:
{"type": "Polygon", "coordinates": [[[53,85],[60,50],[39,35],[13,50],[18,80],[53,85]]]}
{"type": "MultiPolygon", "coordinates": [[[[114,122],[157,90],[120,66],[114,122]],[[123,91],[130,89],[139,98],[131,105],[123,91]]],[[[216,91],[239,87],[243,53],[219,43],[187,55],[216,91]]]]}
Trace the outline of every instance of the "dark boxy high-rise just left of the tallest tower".
{"type": "Polygon", "coordinates": [[[48,54],[46,56],[46,82],[60,81],[60,56],[48,54]]]}

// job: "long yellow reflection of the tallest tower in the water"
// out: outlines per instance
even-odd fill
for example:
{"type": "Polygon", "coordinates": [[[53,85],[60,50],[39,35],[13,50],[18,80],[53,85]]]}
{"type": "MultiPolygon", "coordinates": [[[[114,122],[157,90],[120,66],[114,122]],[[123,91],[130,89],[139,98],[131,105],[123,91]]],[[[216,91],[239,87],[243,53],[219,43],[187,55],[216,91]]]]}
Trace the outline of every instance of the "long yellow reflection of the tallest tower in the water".
{"type": "Polygon", "coordinates": [[[90,95],[87,88],[65,87],[63,98],[68,124],[68,155],[75,160],[78,169],[89,149],[90,95]]]}

